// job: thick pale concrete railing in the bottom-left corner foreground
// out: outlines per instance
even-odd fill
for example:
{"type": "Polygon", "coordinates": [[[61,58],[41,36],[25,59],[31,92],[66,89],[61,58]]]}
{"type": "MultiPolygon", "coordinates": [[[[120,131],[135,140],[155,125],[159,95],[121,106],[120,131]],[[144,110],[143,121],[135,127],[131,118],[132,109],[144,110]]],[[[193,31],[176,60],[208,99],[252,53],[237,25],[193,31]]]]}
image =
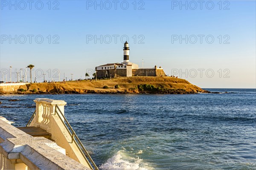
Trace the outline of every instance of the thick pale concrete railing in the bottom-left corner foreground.
{"type": "Polygon", "coordinates": [[[89,170],[65,153],[55,142],[30,136],[0,116],[0,170],[89,170]]]}

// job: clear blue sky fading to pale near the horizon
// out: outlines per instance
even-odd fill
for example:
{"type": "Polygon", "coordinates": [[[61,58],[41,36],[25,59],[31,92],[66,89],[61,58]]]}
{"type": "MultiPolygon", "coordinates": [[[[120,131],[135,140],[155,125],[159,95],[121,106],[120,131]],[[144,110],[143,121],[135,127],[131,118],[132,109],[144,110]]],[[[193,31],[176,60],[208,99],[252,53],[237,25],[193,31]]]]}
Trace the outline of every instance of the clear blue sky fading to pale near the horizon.
{"type": "Polygon", "coordinates": [[[161,66],[201,88],[256,88],[255,1],[46,0],[32,1],[31,9],[27,1],[12,4],[1,1],[1,80],[9,66],[14,81],[15,69],[29,64],[38,82],[42,73],[58,80],[56,69],[61,79],[64,73],[85,78],[95,66],[122,62],[128,37],[130,61],[140,66],[144,59],[144,67],[161,66]]]}

